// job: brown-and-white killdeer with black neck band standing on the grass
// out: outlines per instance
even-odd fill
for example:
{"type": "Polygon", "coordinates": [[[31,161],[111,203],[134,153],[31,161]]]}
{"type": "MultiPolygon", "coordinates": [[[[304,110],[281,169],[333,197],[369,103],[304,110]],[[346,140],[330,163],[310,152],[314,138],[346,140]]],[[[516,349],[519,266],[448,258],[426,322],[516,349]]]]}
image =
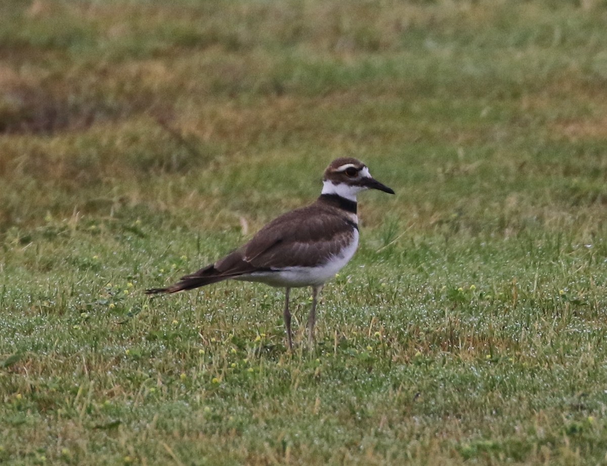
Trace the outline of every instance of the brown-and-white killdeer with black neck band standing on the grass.
{"type": "Polygon", "coordinates": [[[312,287],[308,316],[310,348],[316,323],[316,303],[325,282],[350,261],[358,246],[356,195],[366,189],[394,194],[374,179],[365,164],[346,157],[335,159],[325,170],[322,192],[313,204],[287,212],[263,227],[245,245],[214,264],[181,277],[166,288],[148,294],[177,293],[227,279],[262,282],[283,287],[283,316],[289,348],[293,350],[289,293],[291,288],[312,287]]]}

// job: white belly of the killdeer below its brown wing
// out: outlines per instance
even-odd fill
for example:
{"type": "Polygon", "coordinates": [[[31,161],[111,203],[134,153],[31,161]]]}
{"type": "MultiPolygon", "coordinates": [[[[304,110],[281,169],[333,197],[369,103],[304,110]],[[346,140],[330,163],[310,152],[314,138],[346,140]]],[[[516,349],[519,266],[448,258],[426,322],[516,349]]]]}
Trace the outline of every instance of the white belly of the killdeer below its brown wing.
{"type": "Polygon", "coordinates": [[[316,267],[288,267],[281,270],[255,272],[237,280],[262,282],[273,287],[308,287],[324,284],[347,264],[358,247],[358,230],[354,230],[352,241],[339,255],[332,256],[316,267]]]}

